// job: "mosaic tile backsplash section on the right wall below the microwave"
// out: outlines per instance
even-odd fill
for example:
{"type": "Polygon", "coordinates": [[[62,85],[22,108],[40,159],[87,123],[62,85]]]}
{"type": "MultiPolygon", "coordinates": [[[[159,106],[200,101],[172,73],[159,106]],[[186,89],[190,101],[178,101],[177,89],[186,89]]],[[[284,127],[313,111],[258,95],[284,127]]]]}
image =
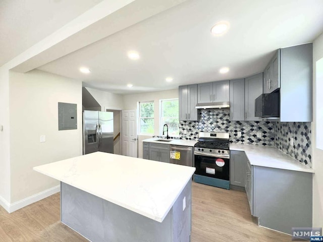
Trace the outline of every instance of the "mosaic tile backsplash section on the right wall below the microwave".
{"type": "Polygon", "coordinates": [[[276,147],[311,167],[311,123],[277,122],[275,126],[276,147]],[[294,139],[293,146],[291,138],[294,139]]]}

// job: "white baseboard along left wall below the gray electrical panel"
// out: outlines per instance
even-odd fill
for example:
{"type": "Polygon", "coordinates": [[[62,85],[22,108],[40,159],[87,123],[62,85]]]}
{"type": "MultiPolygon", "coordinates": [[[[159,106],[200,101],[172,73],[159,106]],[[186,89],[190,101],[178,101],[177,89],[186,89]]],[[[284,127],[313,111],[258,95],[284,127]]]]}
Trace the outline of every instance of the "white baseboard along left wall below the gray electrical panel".
{"type": "Polygon", "coordinates": [[[8,213],[12,213],[12,212],[17,211],[18,209],[21,209],[23,207],[26,207],[26,206],[32,204],[32,203],[38,202],[44,198],[47,198],[53,194],[56,194],[56,193],[60,192],[60,190],[61,190],[61,186],[58,185],[56,187],[47,189],[43,192],[37,193],[35,195],[32,195],[28,198],[25,198],[23,200],[20,200],[18,202],[12,203],[12,204],[9,204],[5,199],[0,197],[0,205],[3,206],[7,210],[8,213]]]}

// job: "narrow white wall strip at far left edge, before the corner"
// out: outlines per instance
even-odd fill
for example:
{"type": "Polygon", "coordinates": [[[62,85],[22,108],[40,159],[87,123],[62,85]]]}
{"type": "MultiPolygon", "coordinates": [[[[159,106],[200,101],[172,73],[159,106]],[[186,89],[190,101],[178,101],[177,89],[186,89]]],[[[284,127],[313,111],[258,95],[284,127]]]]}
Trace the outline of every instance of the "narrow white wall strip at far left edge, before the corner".
{"type": "Polygon", "coordinates": [[[0,205],[10,204],[9,73],[0,68],[0,205]]]}

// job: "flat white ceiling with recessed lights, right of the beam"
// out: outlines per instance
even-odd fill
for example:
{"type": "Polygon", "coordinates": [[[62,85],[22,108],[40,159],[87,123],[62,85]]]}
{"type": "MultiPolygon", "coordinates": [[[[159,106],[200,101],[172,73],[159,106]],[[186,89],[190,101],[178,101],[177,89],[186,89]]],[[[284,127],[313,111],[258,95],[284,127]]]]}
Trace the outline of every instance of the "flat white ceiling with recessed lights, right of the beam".
{"type": "Polygon", "coordinates": [[[189,0],[38,69],[114,93],[167,90],[258,73],[274,50],[311,42],[322,32],[322,0],[189,0]],[[223,20],[229,31],[211,35],[223,20]],[[130,60],[129,50],[140,59],[130,60]],[[91,73],[80,73],[82,66],[91,73]],[[220,74],[224,66],[230,72],[220,74]],[[169,76],[172,83],[165,81],[169,76]]]}

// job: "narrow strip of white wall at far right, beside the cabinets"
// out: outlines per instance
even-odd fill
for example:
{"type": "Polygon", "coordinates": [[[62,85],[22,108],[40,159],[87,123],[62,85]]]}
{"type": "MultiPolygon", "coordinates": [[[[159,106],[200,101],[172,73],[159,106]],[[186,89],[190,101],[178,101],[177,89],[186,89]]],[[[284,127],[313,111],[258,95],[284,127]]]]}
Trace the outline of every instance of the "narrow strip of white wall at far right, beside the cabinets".
{"type": "Polygon", "coordinates": [[[313,168],[315,174],[313,178],[313,227],[323,227],[323,150],[316,148],[316,136],[322,136],[316,132],[316,127],[322,124],[316,123],[316,62],[323,57],[323,34],[313,42],[313,123],[312,123],[312,144],[313,144],[313,168]]]}

